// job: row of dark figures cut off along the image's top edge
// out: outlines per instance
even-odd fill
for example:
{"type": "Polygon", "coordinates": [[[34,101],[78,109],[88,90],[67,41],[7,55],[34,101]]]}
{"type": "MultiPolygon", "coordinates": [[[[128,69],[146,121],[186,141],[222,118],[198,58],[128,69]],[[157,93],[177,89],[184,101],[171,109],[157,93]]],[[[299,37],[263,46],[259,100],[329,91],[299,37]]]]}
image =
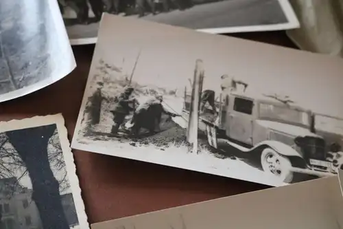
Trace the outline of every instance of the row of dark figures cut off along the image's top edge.
{"type": "Polygon", "coordinates": [[[103,12],[110,14],[119,14],[125,12],[127,8],[138,10],[139,17],[143,17],[147,11],[156,14],[156,4],[161,3],[163,11],[168,12],[171,8],[185,10],[193,6],[192,0],[58,0],[61,13],[64,14],[64,8],[71,7],[78,17],[78,23],[89,23],[88,4],[95,15],[95,21],[101,19],[103,12]]]}

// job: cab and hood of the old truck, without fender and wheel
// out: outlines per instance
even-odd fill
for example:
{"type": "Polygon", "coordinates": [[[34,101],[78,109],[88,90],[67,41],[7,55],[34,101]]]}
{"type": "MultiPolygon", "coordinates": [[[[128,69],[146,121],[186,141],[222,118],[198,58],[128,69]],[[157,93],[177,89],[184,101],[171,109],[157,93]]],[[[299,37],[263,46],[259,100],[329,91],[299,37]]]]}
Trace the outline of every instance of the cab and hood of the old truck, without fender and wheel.
{"type": "MultiPolygon", "coordinates": [[[[311,133],[311,111],[296,107],[280,98],[230,93],[220,102],[218,128],[226,137],[254,146],[264,140],[294,138],[311,133]]],[[[294,144],[294,142],[287,142],[294,144]]]]}

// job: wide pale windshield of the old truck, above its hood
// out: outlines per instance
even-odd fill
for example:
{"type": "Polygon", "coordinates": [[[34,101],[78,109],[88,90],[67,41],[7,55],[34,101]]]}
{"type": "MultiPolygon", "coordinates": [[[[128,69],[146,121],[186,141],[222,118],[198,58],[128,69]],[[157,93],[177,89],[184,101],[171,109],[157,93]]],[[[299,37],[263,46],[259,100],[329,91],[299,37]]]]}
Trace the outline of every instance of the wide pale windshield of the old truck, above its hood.
{"type": "Polygon", "coordinates": [[[309,113],[281,105],[260,103],[259,118],[309,126],[309,113]]]}

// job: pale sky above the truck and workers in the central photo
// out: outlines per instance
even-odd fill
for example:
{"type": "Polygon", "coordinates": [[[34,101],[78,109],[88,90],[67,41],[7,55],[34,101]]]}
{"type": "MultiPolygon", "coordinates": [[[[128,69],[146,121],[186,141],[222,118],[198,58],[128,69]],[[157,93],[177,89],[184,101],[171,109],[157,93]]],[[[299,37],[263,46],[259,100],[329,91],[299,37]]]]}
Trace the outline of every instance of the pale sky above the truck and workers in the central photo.
{"type": "Polygon", "coordinates": [[[252,94],[287,94],[299,105],[343,117],[340,58],[105,15],[90,75],[100,58],[119,66],[125,58],[130,73],[139,50],[138,83],[183,89],[200,58],[204,89],[220,92],[220,76],[228,74],[246,81],[252,94]]]}

